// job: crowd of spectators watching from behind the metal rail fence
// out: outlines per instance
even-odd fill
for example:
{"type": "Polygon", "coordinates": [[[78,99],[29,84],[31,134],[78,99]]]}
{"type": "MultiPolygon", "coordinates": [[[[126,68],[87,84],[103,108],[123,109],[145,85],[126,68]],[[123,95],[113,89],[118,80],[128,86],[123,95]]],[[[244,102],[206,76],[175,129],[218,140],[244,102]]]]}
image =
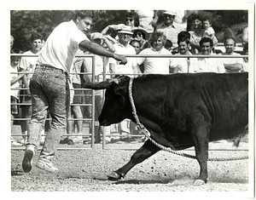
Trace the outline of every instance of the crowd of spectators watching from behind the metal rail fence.
{"type": "MultiPolygon", "coordinates": [[[[242,35],[243,54],[248,54],[248,33],[247,28],[242,35]]],[[[89,98],[83,99],[84,82],[92,82],[97,79],[106,70],[111,77],[116,74],[125,74],[127,76],[137,76],[139,74],[148,73],[195,73],[195,72],[242,72],[248,71],[248,60],[241,58],[187,58],[175,57],[172,55],[239,55],[235,52],[236,40],[234,37],[224,38],[225,52],[217,51],[216,46],[218,39],[215,36],[214,27],[212,27],[211,20],[208,18],[201,19],[201,16],[196,11],[188,10],[166,10],[158,12],[154,10],[129,10],[125,15],[124,23],[118,25],[106,26],[101,32],[94,32],[90,35],[90,40],[98,43],[103,47],[109,49],[115,54],[138,54],[145,55],[145,57],[128,57],[128,62],[125,65],[119,65],[119,62],[113,59],[108,59],[96,55],[95,71],[96,77],[92,78],[90,73],[92,71],[91,58],[77,57],[73,61],[72,69],[72,83],[70,88],[73,90],[71,95],[71,106],[68,112],[69,118],[77,118],[78,134],[83,134],[83,109],[79,104],[91,103],[90,91],[85,91],[85,96],[89,98]],[[193,17],[193,30],[187,30],[187,19],[193,17]],[[160,21],[159,19],[163,19],[160,21]],[[159,57],[147,57],[147,55],[160,55],[159,57]],[[165,55],[162,56],[161,55],[165,55]],[[166,55],[170,55],[167,57],[166,55]],[[85,72],[85,74],[83,74],[85,72]],[[86,74],[87,73],[87,74],[86,74]],[[79,120],[80,119],[80,120],[79,120]]],[[[32,49],[24,54],[40,54],[40,49],[43,45],[43,38],[40,34],[32,34],[32,49]]],[[[14,43],[14,38],[11,37],[11,49],[14,43]]],[[[11,53],[19,53],[19,49],[12,49],[11,53]]],[[[79,50],[77,54],[89,54],[79,50]]],[[[90,53],[91,54],[91,53],[90,53]]],[[[19,99],[18,90],[12,90],[11,103],[22,100],[25,103],[31,102],[29,92],[29,78],[34,70],[36,58],[22,57],[21,61],[18,57],[11,57],[11,71],[20,72],[26,71],[25,75],[11,74],[11,89],[18,89],[22,86],[22,99],[19,99]],[[20,86],[19,86],[20,84],[20,86]]],[[[21,102],[22,102],[21,101],[21,102]]],[[[96,93],[96,119],[99,116],[103,103],[102,92],[96,93]]],[[[12,117],[18,114],[18,108],[11,106],[12,117]]],[[[90,109],[87,111],[91,117],[90,109]]],[[[24,106],[22,109],[22,117],[30,117],[32,115],[30,106],[24,106]]],[[[61,144],[73,145],[74,143],[83,142],[82,136],[72,136],[75,130],[73,123],[67,123],[66,139],[62,140],[61,144]]],[[[12,139],[13,145],[20,146],[26,143],[26,129],[27,123],[22,123],[22,134],[24,135],[22,141],[17,142],[12,139]]],[[[91,127],[90,127],[91,128],[91,127]]],[[[129,120],[122,123],[115,124],[110,128],[96,128],[95,142],[101,142],[102,132],[105,131],[107,135],[112,133],[126,135],[127,137],[115,138],[118,141],[125,141],[127,138],[131,140],[131,134],[136,133],[134,124],[129,120]]],[[[44,135],[44,128],[42,135],[44,135]]],[[[44,142],[44,137],[42,137],[44,142]]],[[[116,141],[115,140],[115,141],[116,141]]],[[[111,140],[107,140],[111,142],[111,140]]],[[[113,140],[112,140],[113,141],[113,140]]]]}

